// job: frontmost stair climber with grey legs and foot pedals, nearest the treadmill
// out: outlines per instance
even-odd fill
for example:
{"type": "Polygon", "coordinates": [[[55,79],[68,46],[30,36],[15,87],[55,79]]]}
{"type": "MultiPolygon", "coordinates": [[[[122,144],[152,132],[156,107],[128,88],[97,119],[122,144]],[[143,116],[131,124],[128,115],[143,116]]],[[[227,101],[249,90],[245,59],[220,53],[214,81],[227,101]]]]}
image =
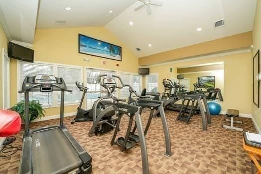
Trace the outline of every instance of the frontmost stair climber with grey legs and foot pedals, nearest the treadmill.
{"type": "Polygon", "coordinates": [[[116,144],[120,146],[121,151],[126,151],[134,147],[136,144],[135,141],[133,141],[130,138],[130,130],[132,127],[133,119],[135,117],[137,132],[138,132],[138,142],[140,144],[141,148],[141,158],[142,158],[142,172],[143,174],[149,174],[149,163],[148,163],[148,154],[147,154],[147,147],[146,147],[146,140],[145,135],[142,127],[142,121],[141,121],[141,107],[130,105],[125,102],[125,99],[117,98],[113,95],[112,91],[115,90],[115,88],[122,89],[124,87],[127,87],[128,85],[124,85],[120,77],[115,75],[100,75],[99,76],[99,82],[102,87],[104,87],[107,90],[108,97],[110,97],[113,100],[112,106],[107,107],[105,110],[101,111],[101,113],[98,115],[98,117],[93,122],[93,125],[89,131],[89,136],[93,136],[95,133],[95,128],[102,122],[103,117],[106,115],[107,112],[110,112],[112,110],[116,111],[116,118],[117,123],[114,130],[114,134],[111,140],[111,146],[116,144]],[[116,80],[119,79],[119,82],[121,85],[117,85],[116,80]],[[119,131],[120,121],[123,116],[129,117],[129,123],[128,128],[125,137],[119,137],[116,141],[116,136],[119,131]]]}

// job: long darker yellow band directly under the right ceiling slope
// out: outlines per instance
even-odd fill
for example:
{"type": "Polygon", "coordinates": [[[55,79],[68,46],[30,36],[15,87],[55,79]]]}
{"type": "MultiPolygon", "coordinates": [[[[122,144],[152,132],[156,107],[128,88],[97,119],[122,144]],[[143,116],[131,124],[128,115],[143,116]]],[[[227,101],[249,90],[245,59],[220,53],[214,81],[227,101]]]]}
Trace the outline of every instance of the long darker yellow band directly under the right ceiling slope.
{"type": "Polygon", "coordinates": [[[251,31],[141,57],[139,58],[139,65],[153,65],[174,59],[245,48],[250,45],[252,45],[251,31]]]}

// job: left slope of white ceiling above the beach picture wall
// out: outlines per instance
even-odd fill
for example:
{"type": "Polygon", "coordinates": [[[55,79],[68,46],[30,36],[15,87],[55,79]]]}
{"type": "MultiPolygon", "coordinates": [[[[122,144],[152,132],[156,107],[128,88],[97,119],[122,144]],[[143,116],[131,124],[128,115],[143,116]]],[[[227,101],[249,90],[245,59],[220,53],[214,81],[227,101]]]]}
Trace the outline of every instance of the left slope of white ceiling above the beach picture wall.
{"type": "Polygon", "coordinates": [[[41,0],[37,28],[103,26],[136,0],[41,0]],[[66,7],[71,7],[66,11],[66,7]],[[112,13],[109,11],[112,10],[112,13]],[[65,25],[56,20],[67,20],[65,25]]]}

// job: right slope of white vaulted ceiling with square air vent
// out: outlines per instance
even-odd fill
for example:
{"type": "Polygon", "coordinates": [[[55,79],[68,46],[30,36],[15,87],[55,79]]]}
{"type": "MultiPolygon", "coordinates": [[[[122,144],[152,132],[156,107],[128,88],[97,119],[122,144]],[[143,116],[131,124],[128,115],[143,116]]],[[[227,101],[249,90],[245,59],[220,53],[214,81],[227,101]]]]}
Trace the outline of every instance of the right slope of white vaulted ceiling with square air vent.
{"type": "Polygon", "coordinates": [[[132,4],[105,25],[137,57],[251,31],[256,0],[163,0],[163,6],[151,7],[151,15],[146,8],[135,12],[140,4],[132,4]],[[222,18],[226,26],[214,29],[213,22],[222,18]]]}

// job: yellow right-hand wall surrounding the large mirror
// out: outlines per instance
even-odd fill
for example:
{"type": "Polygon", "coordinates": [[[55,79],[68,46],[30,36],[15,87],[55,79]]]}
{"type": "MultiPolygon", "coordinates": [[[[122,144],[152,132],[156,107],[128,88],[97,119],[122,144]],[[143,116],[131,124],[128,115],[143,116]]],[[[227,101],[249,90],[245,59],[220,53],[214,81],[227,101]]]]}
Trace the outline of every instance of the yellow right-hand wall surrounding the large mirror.
{"type": "MultiPolygon", "coordinates": [[[[162,80],[176,77],[176,68],[206,63],[224,62],[224,102],[220,102],[222,110],[238,109],[240,113],[251,114],[251,52],[221,57],[178,62],[168,65],[151,66],[150,72],[159,73],[159,91],[163,91],[162,80]],[[169,69],[173,69],[173,73],[169,69]]],[[[143,81],[144,82],[144,81],[143,81]]]]}

